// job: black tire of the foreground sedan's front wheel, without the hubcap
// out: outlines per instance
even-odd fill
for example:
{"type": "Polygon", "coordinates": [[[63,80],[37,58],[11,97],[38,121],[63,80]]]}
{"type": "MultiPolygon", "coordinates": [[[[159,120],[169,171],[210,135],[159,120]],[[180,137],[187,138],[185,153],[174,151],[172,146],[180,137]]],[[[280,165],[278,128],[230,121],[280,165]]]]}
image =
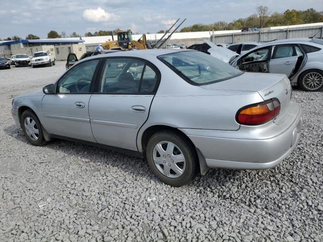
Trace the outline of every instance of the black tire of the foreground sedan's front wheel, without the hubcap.
{"type": "MultiPolygon", "coordinates": [[[[42,146],[44,144],[46,144],[47,142],[45,141],[44,139],[44,136],[43,136],[43,133],[42,133],[42,127],[41,127],[41,124],[39,122],[39,119],[38,117],[36,116],[36,114],[31,111],[30,109],[27,109],[25,110],[22,115],[21,115],[21,118],[20,118],[20,125],[21,125],[21,128],[25,134],[25,137],[27,138],[27,140],[34,146],[42,146]],[[26,127],[25,127],[25,119],[26,118],[31,118],[31,120],[34,120],[35,123],[36,123],[36,127],[38,129],[38,139],[37,140],[33,140],[28,134],[27,134],[27,131],[26,131],[26,127]]],[[[35,126],[34,126],[35,127],[35,126]]],[[[33,128],[34,128],[33,127],[33,128]]]]}

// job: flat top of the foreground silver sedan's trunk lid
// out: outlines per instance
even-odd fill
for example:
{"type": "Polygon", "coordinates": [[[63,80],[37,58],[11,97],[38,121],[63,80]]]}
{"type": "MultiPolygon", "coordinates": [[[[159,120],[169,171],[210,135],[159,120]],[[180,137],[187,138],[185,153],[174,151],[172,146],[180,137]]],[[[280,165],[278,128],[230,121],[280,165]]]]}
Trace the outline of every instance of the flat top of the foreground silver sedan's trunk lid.
{"type": "Polygon", "coordinates": [[[238,77],[201,87],[205,89],[261,92],[275,86],[284,78],[286,78],[284,74],[245,72],[238,77]]]}

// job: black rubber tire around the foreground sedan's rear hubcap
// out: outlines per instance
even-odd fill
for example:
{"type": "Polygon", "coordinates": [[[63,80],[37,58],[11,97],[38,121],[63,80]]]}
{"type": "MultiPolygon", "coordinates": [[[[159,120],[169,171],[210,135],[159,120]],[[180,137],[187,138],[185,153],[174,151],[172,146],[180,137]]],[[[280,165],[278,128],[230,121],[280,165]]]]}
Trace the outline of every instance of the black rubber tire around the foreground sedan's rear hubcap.
{"type": "MultiPolygon", "coordinates": [[[[148,141],[146,148],[146,158],[148,166],[152,173],[154,173],[155,176],[157,176],[161,181],[163,181],[163,183],[173,187],[180,187],[185,185],[190,180],[192,180],[199,171],[199,163],[195,147],[184,135],[181,135],[173,131],[161,131],[154,134],[148,141]],[[168,177],[167,175],[158,170],[157,165],[153,160],[153,152],[155,145],[163,141],[172,142],[173,144],[175,144],[175,146],[177,146],[180,149],[180,152],[182,152],[182,154],[184,155],[185,169],[179,177],[168,177]]],[[[161,157],[161,159],[164,158],[161,157]]],[[[164,167],[164,165],[162,167],[164,167]]]]}

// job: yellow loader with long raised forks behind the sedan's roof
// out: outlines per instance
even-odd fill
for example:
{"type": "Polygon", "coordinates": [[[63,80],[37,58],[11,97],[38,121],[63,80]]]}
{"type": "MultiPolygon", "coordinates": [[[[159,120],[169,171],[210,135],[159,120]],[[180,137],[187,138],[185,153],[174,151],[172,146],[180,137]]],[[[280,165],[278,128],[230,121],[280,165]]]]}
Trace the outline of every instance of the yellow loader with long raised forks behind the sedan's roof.
{"type": "Polygon", "coordinates": [[[164,43],[172,36],[172,34],[184,23],[186,19],[180,23],[175,30],[170,33],[170,30],[175,26],[175,24],[179,21],[178,19],[169,30],[165,32],[163,37],[161,37],[155,44],[154,46],[150,46],[147,43],[146,35],[143,34],[138,40],[133,40],[132,39],[132,33],[131,31],[118,31],[116,32],[116,35],[118,37],[117,40],[114,40],[114,37],[112,35],[112,40],[111,41],[106,41],[105,43],[102,43],[103,49],[119,49],[119,50],[131,50],[131,49],[151,49],[151,48],[160,48],[163,46],[164,43]],[[169,36],[166,39],[163,39],[168,33],[169,36]]]}

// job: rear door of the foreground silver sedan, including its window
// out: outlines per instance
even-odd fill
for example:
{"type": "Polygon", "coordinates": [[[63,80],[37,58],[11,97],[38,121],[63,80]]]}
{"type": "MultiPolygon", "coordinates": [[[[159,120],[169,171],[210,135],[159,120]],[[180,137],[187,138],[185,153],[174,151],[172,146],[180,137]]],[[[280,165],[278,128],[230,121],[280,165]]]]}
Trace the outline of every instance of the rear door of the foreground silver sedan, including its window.
{"type": "Polygon", "coordinates": [[[92,133],[104,145],[137,151],[138,130],[148,117],[160,74],[137,58],[107,58],[89,102],[92,133]]]}

